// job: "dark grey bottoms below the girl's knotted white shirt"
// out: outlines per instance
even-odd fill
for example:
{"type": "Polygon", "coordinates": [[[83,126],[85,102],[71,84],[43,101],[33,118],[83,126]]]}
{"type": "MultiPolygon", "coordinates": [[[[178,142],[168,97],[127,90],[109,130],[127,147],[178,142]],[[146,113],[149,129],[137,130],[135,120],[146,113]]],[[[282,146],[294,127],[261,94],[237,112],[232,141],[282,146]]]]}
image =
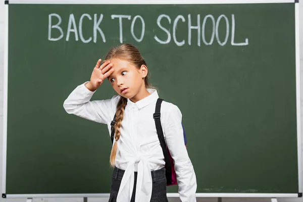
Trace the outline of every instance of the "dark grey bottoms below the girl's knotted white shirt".
{"type": "MultiPolygon", "coordinates": [[[[121,170],[115,167],[112,178],[112,187],[111,187],[111,195],[109,202],[116,202],[118,191],[120,188],[121,180],[124,175],[124,170],[121,170]]],[[[135,201],[135,193],[136,193],[136,184],[137,184],[137,172],[135,172],[134,177],[134,188],[131,196],[130,202],[135,201]]],[[[151,171],[151,179],[153,179],[153,190],[151,191],[151,199],[150,202],[168,202],[166,196],[166,176],[165,176],[165,168],[160,170],[151,171]]],[[[125,201],[127,202],[127,201],[125,201]]],[[[142,201],[146,202],[146,201],[142,201]]]]}

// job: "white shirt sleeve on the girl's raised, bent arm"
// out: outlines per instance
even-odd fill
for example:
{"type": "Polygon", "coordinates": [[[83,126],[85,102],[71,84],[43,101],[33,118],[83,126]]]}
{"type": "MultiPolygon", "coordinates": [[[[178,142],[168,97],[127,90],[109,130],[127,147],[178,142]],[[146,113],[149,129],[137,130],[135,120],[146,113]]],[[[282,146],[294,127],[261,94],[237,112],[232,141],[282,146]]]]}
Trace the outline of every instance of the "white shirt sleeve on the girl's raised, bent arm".
{"type": "Polygon", "coordinates": [[[67,97],[63,104],[65,111],[91,121],[108,124],[111,122],[110,115],[114,113],[115,96],[112,99],[89,101],[95,91],[88,90],[84,84],[77,86],[67,97]]]}

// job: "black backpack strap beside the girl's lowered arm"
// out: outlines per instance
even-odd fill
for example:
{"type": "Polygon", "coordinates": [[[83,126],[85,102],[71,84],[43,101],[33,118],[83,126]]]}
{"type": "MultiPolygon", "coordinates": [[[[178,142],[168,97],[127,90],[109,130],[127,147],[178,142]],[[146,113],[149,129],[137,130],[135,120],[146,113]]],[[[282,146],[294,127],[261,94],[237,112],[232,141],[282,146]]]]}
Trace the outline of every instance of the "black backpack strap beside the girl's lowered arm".
{"type": "Polygon", "coordinates": [[[167,151],[167,147],[166,147],[166,143],[165,143],[165,139],[164,139],[164,134],[163,134],[162,126],[161,126],[161,120],[160,120],[162,101],[163,101],[163,99],[158,98],[157,103],[156,103],[154,119],[155,119],[156,129],[157,129],[157,133],[158,133],[158,138],[160,141],[160,145],[162,147],[164,160],[165,160],[166,181],[167,181],[167,184],[171,184],[172,183],[172,166],[171,166],[171,162],[169,159],[169,155],[168,155],[168,151],[167,151]]]}

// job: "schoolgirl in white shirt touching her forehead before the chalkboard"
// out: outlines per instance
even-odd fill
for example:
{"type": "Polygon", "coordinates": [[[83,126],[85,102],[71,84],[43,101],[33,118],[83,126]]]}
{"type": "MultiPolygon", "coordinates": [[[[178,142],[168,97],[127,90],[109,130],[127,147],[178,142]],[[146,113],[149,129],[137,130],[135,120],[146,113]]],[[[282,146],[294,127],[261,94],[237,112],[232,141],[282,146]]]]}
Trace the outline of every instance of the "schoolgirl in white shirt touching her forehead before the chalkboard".
{"type": "MultiPolygon", "coordinates": [[[[103,63],[98,60],[90,81],[77,86],[64,102],[67,113],[107,124],[110,133],[116,115],[109,201],[168,201],[164,155],[153,118],[159,96],[147,75],[147,65],[138,49],[122,44],[113,47],[103,63]],[[91,101],[93,93],[106,79],[118,95],[91,101]]],[[[102,93],[102,87],[98,93],[102,93]]],[[[174,160],[180,199],[194,202],[196,176],[184,145],[181,120],[177,106],[162,103],[161,124],[174,160]]]]}

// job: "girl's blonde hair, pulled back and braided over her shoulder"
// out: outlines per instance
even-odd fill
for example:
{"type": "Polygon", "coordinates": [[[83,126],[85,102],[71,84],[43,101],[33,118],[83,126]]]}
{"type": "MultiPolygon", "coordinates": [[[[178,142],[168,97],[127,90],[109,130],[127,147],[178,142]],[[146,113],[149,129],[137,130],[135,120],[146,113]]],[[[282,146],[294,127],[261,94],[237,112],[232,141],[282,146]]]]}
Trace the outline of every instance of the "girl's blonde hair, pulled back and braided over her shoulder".
{"type": "MultiPolygon", "coordinates": [[[[140,69],[142,65],[146,65],[145,60],[141,56],[139,50],[137,47],[135,47],[132,44],[125,43],[117,47],[112,47],[105,57],[104,61],[108,61],[110,59],[117,58],[120,60],[125,60],[128,61],[129,63],[132,63],[136,68],[140,69]]],[[[147,72],[148,75],[148,72],[147,72]]],[[[152,88],[152,86],[148,82],[148,77],[144,77],[144,83],[146,88],[152,88]]],[[[122,120],[123,120],[123,115],[124,115],[124,110],[127,105],[127,98],[121,96],[120,100],[117,105],[117,111],[116,111],[116,124],[114,126],[115,128],[115,143],[112,148],[111,152],[111,158],[110,158],[110,163],[112,167],[115,167],[115,161],[116,161],[116,155],[117,155],[117,150],[118,150],[118,145],[117,141],[120,138],[121,131],[120,127],[122,125],[122,120]]]]}

